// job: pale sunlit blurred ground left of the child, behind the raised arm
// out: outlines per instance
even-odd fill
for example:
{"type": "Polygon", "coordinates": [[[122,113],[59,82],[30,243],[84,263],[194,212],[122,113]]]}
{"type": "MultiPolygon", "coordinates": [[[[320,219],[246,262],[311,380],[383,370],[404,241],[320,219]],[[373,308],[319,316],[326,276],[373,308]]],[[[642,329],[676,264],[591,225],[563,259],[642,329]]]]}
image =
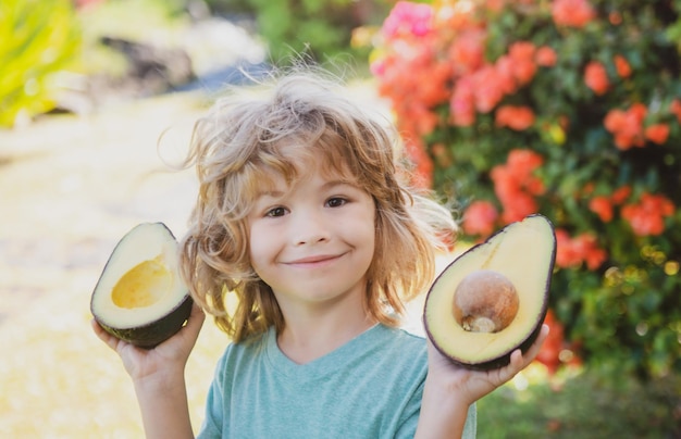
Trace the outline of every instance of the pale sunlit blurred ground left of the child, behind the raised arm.
{"type": "MultiPolygon", "coordinates": [[[[198,95],[50,116],[0,131],[0,437],[141,437],[129,378],[94,336],[89,299],[119,239],[139,222],[176,236],[194,175],[164,172],[202,109],[198,95]]],[[[206,325],[187,366],[200,425],[226,337],[206,325]]]]}

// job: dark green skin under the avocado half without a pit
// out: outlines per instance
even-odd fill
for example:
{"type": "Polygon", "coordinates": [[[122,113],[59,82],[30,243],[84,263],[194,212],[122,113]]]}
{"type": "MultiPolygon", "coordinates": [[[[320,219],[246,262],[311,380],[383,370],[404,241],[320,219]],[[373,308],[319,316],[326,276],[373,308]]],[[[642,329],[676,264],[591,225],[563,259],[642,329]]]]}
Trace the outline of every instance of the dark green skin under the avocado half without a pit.
{"type": "Polygon", "coordinates": [[[112,336],[144,349],[153,349],[163,341],[174,336],[191,314],[194,301],[190,296],[179,303],[177,308],[156,322],[134,328],[114,328],[100,319],[97,319],[107,333],[112,336]]]}

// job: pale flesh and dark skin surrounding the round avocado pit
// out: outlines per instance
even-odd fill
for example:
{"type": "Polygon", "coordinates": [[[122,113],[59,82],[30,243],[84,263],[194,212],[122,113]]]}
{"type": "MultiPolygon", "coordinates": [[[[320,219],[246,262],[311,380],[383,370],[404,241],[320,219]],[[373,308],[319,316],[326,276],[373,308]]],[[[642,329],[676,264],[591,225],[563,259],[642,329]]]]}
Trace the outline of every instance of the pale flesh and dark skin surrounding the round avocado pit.
{"type": "Polygon", "coordinates": [[[470,368],[508,364],[510,353],[518,348],[524,352],[540,333],[548,308],[555,258],[554,227],[542,215],[509,224],[466,251],[435,279],[425,299],[423,321],[433,344],[453,362],[470,368]],[[480,269],[502,273],[518,293],[518,312],[498,333],[468,331],[453,315],[457,286],[480,269]]]}

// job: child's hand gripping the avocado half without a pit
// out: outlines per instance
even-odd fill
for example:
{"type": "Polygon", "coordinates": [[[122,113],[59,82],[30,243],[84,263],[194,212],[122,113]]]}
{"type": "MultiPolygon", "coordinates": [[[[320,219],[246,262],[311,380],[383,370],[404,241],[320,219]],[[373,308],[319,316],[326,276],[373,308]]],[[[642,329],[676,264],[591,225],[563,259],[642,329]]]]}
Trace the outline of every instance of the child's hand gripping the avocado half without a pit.
{"type": "Polygon", "coordinates": [[[134,381],[152,376],[184,374],[184,367],[203,325],[206,315],[195,303],[187,324],[174,336],[153,349],[141,349],[107,333],[92,319],[92,330],[109,348],[114,350],[134,381]]]}

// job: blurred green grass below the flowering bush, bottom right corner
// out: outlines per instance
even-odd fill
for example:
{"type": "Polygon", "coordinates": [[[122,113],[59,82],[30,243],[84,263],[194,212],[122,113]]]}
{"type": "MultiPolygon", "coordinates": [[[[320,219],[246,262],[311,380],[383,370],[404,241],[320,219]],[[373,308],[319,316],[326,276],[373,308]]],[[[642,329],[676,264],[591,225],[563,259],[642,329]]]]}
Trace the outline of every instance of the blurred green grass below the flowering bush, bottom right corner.
{"type": "MultiPolygon", "coordinates": [[[[524,374],[524,373],[523,373],[524,374]]],[[[512,438],[678,438],[681,381],[645,385],[620,376],[617,386],[593,374],[556,385],[541,380],[519,390],[504,386],[478,402],[478,435],[512,438]]]]}

